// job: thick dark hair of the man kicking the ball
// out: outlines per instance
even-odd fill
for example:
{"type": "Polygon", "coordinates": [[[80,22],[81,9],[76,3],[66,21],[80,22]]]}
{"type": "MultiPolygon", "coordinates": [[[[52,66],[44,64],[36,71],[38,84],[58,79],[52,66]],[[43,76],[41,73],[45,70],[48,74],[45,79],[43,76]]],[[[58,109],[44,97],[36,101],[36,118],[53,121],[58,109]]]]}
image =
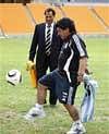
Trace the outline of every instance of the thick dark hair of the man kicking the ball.
{"type": "Polygon", "coordinates": [[[56,24],[57,27],[60,27],[62,29],[66,29],[69,28],[70,33],[76,34],[76,29],[75,29],[75,24],[74,22],[69,19],[69,17],[63,17],[61,20],[59,20],[56,24]]]}

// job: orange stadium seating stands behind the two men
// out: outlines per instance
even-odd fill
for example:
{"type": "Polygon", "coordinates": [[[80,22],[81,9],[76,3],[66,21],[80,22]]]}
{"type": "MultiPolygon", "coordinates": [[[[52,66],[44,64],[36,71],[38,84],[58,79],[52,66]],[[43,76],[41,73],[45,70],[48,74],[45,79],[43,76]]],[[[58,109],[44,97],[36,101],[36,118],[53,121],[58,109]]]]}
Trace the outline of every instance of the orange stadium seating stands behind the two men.
{"type": "Polygon", "coordinates": [[[0,36],[33,34],[45,21],[46,8],[56,10],[56,21],[74,20],[82,35],[109,35],[109,0],[0,0],[0,36]]]}

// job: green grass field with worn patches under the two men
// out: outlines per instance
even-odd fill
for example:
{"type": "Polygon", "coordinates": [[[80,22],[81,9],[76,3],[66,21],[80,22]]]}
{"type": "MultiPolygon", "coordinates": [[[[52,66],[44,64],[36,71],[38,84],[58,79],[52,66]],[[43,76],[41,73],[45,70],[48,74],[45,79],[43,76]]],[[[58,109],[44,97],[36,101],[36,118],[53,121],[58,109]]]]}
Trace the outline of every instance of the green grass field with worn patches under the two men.
{"type": "MultiPolygon", "coordinates": [[[[89,53],[89,69],[98,81],[95,118],[85,123],[87,134],[109,134],[109,38],[86,38],[89,53]]],[[[29,38],[0,39],[0,134],[64,134],[71,119],[63,107],[45,106],[47,117],[27,122],[22,117],[35,103],[36,90],[32,88],[25,71],[29,38]],[[11,86],[5,82],[5,73],[11,69],[22,71],[23,82],[11,86]]],[[[75,103],[80,108],[83,96],[80,86],[75,103]]]]}

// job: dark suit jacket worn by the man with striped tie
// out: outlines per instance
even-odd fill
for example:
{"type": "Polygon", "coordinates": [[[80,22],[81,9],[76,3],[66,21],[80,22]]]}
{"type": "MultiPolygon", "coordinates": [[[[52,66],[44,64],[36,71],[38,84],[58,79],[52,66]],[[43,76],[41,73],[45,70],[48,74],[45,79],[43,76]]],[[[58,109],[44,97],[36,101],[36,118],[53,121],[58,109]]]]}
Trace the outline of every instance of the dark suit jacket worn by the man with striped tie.
{"type": "MultiPolygon", "coordinates": [[[[36,56],[36,65],[40,68],[40,65],[45,64],[45,57],[46,50],[45,50],[45,29],[46,29],[46,23],[41,23],[36,25],[35,33],[29,50],[29,60],[34,61],[35,54],[36,56]],[[37,51],[36,51],[37,49],[37,51]]],[[[51,53],[50,53],[50,62],[53,62],[55,65],[58,64],[58,57],[61,49],[61,39],[57,35],[56,26],[53,26],[53,34],[52,34],[52,41],[51,41],[51,53]]]]}

